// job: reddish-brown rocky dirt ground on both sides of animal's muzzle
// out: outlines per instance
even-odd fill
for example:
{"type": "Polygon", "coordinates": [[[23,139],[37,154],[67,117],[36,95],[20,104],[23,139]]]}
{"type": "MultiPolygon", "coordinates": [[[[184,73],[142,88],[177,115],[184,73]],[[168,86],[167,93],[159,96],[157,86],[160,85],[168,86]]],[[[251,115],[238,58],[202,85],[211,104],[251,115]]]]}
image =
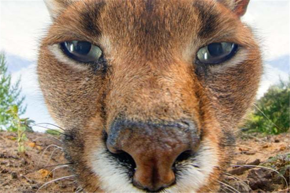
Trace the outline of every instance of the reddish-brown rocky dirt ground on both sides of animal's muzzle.
{"type": "MultiPolygon", "coordinates": [[[[16,134],[0,132],[0,192],[81,192],[59,139],[45,133],[27,137],[28,150],[19,155],[16,134]],[[61,177],[67,178],[56,180],[61,177]]],[[[241,134],[235,148],[221,192],[289,192],[289,133],[241,134]]]]}

